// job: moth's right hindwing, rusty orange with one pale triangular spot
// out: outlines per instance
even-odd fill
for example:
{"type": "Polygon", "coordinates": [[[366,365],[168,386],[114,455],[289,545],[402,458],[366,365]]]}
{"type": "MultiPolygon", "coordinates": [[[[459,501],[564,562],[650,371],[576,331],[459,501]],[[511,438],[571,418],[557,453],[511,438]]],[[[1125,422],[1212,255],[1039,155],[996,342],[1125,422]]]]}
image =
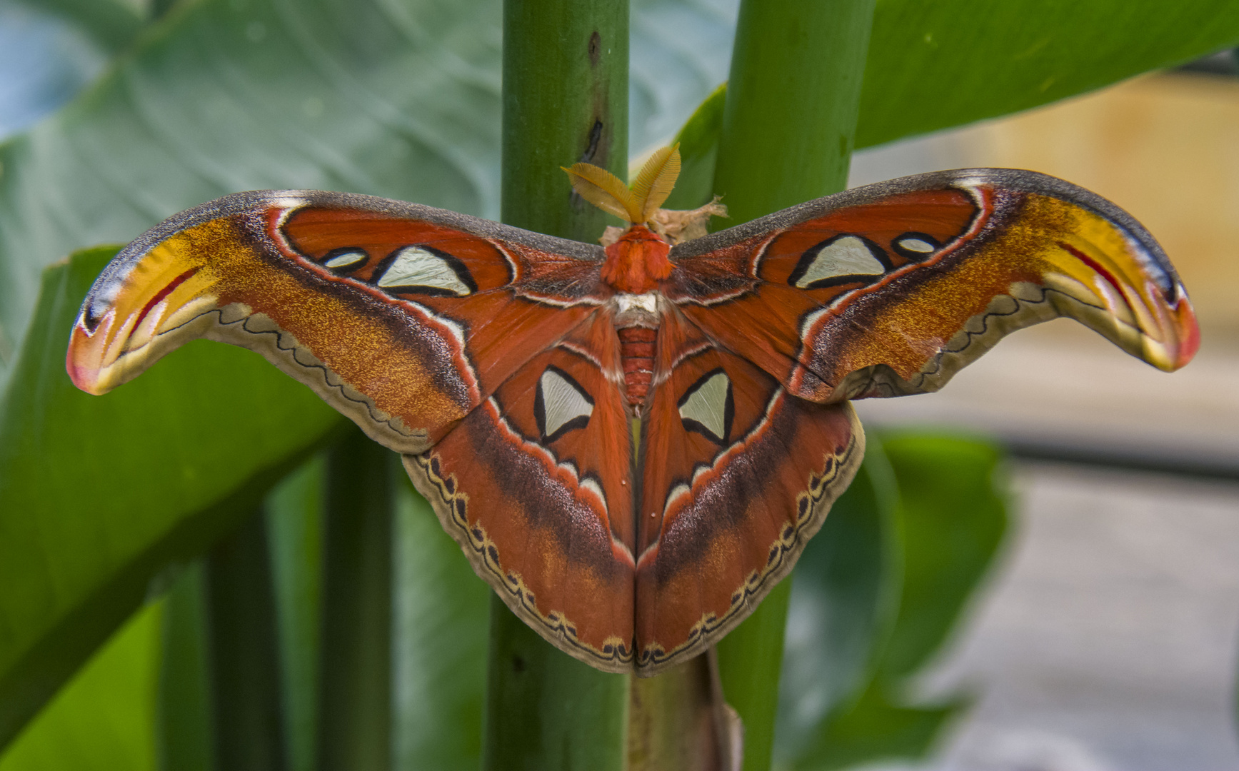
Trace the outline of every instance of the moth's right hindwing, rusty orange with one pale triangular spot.
{"type": "Polygon", "coordinates": [[[851,407],[793,397],[674,309],[658,330],[637,508],[638,673],[742,621],[847,487],[865,438],[851,407]]]}

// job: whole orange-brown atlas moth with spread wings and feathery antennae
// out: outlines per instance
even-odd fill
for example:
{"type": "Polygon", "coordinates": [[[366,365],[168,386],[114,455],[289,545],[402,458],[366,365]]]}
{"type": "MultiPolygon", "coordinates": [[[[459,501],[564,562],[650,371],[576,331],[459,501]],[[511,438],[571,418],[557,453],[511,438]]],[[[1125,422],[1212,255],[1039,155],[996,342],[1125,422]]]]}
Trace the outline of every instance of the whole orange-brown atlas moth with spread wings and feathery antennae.
{"type": "Polygon", "coordinates": [[[258,351],[403,455],[538,633],[648,676],[792,569],[864,455],[849,400],[937,390],[1057,316],[1166,371],[1198,347],[1152,237],[1062,180],[903,177],[673,245],[704,231],[659,208],[678,170],[672,148],[631,188],[567,170],[629,223],[605,248],[369,196],[225,196],[115,257],[68,371],[99,394],[196,337],[258,351]]]}

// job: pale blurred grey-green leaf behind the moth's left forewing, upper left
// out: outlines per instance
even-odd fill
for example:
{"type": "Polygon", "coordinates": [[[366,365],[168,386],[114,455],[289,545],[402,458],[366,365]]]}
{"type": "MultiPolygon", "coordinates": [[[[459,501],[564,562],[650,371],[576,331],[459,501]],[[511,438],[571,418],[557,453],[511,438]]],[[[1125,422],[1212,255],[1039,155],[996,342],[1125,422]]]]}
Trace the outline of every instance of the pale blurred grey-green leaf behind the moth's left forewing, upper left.
{"type": "MultiPolygon", "coordinates": [[[[253,188],[498,209],[498,0],[203,0],[0,146],[0,335],[38,270],[253,188]]],[[[2,355],[5,345],[0,345],[2,355]]]]}

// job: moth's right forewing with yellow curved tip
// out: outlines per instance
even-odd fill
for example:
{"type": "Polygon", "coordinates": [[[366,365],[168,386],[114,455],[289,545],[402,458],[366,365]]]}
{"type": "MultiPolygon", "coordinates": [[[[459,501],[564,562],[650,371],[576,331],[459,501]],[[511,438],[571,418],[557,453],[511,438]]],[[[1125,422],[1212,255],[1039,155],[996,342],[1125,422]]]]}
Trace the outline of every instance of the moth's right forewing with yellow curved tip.
{"type": "Polygon", "coordinates": [[[937,390],[1007,332],[1070,316],[1175,369],[1198,332],[1130,216],[1031,171],[906,177],[676,247],[664,293],[711,340],[825,402],[937,390]]]}

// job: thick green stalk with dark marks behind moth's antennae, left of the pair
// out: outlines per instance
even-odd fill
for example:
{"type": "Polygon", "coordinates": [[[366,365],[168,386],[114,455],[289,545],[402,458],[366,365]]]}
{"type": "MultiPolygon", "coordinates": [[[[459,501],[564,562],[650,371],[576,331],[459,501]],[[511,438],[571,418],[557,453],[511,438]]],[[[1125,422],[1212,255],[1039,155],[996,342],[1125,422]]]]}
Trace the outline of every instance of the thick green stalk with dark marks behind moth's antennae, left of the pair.
{"type": "MultiPolygon", "coordinates": [[[[559,167],[589,161],[626,176],[627,99],[627,2],[507,0],[503,221],[597,239],[605,216],[559,167]]],[[[483,769],[618,771],[627,708],[627,677],[558,651],[492,596],[483,769]]]]}

